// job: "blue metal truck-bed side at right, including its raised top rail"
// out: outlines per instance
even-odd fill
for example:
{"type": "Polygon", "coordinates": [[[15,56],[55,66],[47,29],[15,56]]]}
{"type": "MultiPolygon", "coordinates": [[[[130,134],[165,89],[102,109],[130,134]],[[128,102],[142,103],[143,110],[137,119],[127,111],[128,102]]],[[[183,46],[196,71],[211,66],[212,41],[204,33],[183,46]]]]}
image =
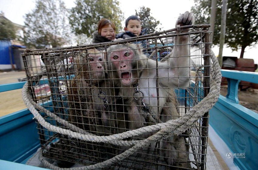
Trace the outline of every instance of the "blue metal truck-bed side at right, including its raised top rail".
{"type": "Polygon", "coordinates": [[[258,83],[258,74],[233,70],[222,70],[221,73],[233,83],[229,83],[226,97],[220,95],[215,106],[209,111],[209,123],[228,145],[232,154],[245,154],[245,158],[235,156],[234,163],[240,169],[256,170],[258,167],[258,114],[238,104],[237,82],[243,80],[258,83]]]}

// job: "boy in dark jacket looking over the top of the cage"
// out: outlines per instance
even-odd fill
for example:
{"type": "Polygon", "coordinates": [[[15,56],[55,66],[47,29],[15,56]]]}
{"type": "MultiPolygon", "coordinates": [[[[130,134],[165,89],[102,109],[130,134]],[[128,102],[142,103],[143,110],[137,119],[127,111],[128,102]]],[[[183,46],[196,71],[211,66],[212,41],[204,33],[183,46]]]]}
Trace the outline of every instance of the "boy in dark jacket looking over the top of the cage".
{"type": "Polygon", "coordinates": [[[136,15],[132,15],[125,20],[124,31],[118,33],[116,38],[125,39],[146,34],[146,29],[141,30],[141,20],[136,15]]]}

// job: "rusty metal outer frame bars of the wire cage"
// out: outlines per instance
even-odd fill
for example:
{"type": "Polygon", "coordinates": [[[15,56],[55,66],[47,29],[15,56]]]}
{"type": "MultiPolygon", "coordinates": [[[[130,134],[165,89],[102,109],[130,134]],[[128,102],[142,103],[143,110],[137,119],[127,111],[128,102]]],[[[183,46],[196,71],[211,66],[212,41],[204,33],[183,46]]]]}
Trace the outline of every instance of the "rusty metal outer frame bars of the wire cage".
{"type": "MultiPolygon", "coordinates": [[[[194,25],[194,26],[182,26],[181,29],[183,28],[208,28],[209,25],[194,25]]],[[[22,54],[22,56],[24,57],[24,63],[26,63],[26,59],[25,57],[28,56],[28,55],[35,55],[35,54],[38,54],[38,55],[43,55],[43,57],[46,57],[46,54],[49,54],[49,53],[59,53],[60,51],[65,51],[66,53],[67,52],[71,52],[72,55],[73,55],[73,52],[74,51],[81,51],[81,50],[88,50],[88,49],[91,49],[91,48],[97,48],[97,47],[105,47],[105,51],[107,52],[107,47],[108,46],[111,46],[111,45],[115,45],[115,44],[119,44],[119,43],[125,43],[125,42],[133,42],[135,41],[135,39],[137,39],[138,41],[141,41],[141,40],[148,40],[148,39],[154,39],[155,38],[155,41],[157,41],[158,38],[163,38],[163,37],[175,37],[177,36],[176,34],[172,34],[172,35],[167,35],[166,33],[168,32],[171,32],[171,31],[178,31],[180,32],[180,29],[178,30],[179,28],[174,28],[174,29],[171,29],[171,30],[168,30],[168,31],[162,31],[162,32],[157,32],[157,33],[154,33],[154,34],[149,34],[149,35],[144,35],[144,36],[139,36],[138,38],[129,38],[129,39],[126,39],[126,40],[123,40],[123,41],[119,41],[119,42],[111,42],[111,43],[100,43],[100,44],[94,44],[93,45],[81,45],[81,46],[78,46],[78,47],[63,47],[63,48],[52,48],[52,49],[39,49],[39,50],[26,50],[24,54],[22,54]],[[158,36],[158,34],[165,34],[163,37],[162,36],[158,36]],[[153,36],[153,37],[151,37],[153,36]],[[148,37],[151,37],[151,38],[148,38],[148,37]]],[[[201,33],[201,34],[205,34],[205,54],[203,55],[203,59],[204,59],[204,65],[205,66],[208,66],[208,69],[204,69],[204,73],[203,73],[203,77],[205,79],[205,83],[204,83],[204,87],[207,87],[207,88],[204,88],[204,97],[207,96],[207,94],[209,93],[209,76],[210,76],[210,55],[211,55],[211,51],[210,51],[210,32],[207,31],[207,30],[201,30],[201,31],[195,31],[195,34],[198,34],[198,33],[201,33]]],[[[188,35],[189,33],[180,33],[180,35],[188,35]]],[[[157,53],[157,50],[159,49],[159,47],[155,47],[155,52],[157,53]]],[[[34,76],[30,76],[30,70],[29,70],[29,66],[28,64],[26,63],[26,66],[25,66],[25,70],[26,70],[26,76],[27,76],[27,80],[28,80],[28,83],[29,83],[29,86],[31,87],[30,90],[31,90],[31,94],[35,94],[35,91],[32,87],[34,87],[34,83],[36,83],[37,81],[40,81],[40,80],[33,80],[32,77],[34,76]]],[[[47,70],[48,71],[48,70],[47,70]]],[[[39,77],[40,77],[40,74],[39,74],[39,77]]],[[[40,79],[40,78],[39,78],[40,79]]],[[[48,78],[49,80],[50,78],[48,78]]],[[[53,94],[53,89],[51,91],[51,94],[53,94]]],[[[38,101],[38,99],[36,99],[36,96],[35,95],[32,95],[32,98],[35,102],[38,101]]],[[[201,151],[201,161],[199,162],[199,164],[197,164],[197,169],[205,169],[205,163],[206,163],[206,154],[207,154],[207,142],[208,142],[208,123],[209,123],[209,113],[205,113],[205,115],[202,117],[202,136],[205,136],[205,138],[202,138],[202,151],[201,151]]],[[[42,130],[43,128],[42,127],[39,127],[40,125],[38,124],[38,130],[39,130],[39,135],[41,136],[40,139],[40,143],[42,145],[42,148],[44,145],[49,145],[49,143],[51,142],[46,142],[44,143],[44,138],[42,136],[44,136],[44,131],[41,131],[40,132],[40,129],[42,130]]],[[[51,136],[51,135],[49,135],[51,136]]]]}

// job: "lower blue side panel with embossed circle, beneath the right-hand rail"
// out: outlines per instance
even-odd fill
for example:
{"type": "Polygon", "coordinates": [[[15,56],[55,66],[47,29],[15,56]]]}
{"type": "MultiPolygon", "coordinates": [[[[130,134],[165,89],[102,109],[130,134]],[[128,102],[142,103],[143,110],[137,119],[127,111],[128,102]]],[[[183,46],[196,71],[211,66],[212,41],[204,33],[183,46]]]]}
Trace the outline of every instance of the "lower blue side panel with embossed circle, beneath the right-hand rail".
{"type": "Polygon", "coordinates": [[[232,150],[232,154],[245,154],[244,159],[234,158],[239,168],[256,170],[258,167],[258,114],[220,96],[209,115],[210,125],[232,150]]]}

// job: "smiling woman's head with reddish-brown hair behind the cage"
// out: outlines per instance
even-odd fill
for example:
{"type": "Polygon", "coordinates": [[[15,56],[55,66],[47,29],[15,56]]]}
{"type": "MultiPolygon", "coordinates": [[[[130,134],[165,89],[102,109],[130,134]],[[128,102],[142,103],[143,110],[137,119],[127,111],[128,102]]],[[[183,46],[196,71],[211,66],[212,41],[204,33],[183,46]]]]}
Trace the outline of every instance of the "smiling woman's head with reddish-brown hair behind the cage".
{"type": "Polygon", "coordinates": [[[116,36],[116,26],[106,18],[102,18],[98,23],[98,32],[102,37],[114,40],[116,36]]]}

